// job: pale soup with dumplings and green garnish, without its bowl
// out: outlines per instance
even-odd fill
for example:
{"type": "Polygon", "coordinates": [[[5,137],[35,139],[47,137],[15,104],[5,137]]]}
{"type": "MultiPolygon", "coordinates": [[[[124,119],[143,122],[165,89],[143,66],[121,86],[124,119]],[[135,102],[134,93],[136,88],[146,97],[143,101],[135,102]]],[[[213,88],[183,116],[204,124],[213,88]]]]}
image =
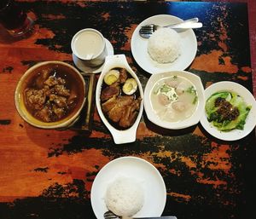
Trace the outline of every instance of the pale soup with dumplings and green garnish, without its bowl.
{"type": "Polygon", "coordinates": [[[160,78],[154,84],[150,101],[155,115],[172,123],[191,117],[198,107],[195,85],[177,75],[160,78]]]}

